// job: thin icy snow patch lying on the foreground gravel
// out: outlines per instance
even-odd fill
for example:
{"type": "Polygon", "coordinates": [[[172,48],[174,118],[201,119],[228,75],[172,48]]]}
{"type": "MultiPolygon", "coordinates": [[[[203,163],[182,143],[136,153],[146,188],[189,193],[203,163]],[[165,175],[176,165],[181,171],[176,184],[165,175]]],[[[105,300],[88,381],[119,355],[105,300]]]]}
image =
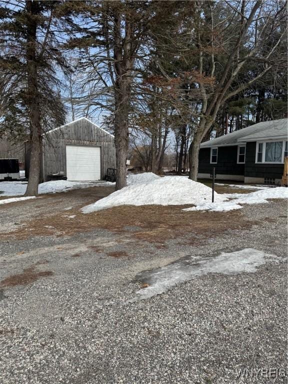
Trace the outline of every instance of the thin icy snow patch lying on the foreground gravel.
{"type": "Polygon", "coordinates": [[[136,296],[129,300],[134,302],[161,294],[179,283],[207,273],[237,274],[255,272],[259,265],[267,261],[279,262],[279,257],[262,250],[244,248],[234,252],[221,252],[217,256],[188,256],[160,268],[139,273],[136,278],[146,284],[136,296]]]}

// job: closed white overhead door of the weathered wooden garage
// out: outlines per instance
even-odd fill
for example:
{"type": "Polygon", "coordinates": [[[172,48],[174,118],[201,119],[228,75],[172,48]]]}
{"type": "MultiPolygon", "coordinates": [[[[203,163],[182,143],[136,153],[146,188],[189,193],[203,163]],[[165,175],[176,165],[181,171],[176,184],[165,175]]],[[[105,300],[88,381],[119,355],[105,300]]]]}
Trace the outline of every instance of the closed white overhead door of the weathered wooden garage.
{"type": "Polygon", "coordinates": [[[100,147],[66,145],[66,172],[70,181],[99,180],[100,147]]]}

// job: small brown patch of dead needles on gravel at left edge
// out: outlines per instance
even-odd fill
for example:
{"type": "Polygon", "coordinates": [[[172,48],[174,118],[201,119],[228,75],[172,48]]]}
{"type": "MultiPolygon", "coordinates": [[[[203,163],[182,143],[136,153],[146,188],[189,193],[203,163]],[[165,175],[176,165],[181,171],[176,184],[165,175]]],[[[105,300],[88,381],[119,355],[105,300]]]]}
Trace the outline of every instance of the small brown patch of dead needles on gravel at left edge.
{"type": "Polygon", "coordinates": [[[0,281],[1,286],[15,286],[25,285],[36,281],[40,277],[51,276],[53,274],[50,270],[37,271],[35,270],[36,265],[44,264],[46,261],[37,262],[28,268],[23,269],[22,273],[12,274],[0,281]]]}

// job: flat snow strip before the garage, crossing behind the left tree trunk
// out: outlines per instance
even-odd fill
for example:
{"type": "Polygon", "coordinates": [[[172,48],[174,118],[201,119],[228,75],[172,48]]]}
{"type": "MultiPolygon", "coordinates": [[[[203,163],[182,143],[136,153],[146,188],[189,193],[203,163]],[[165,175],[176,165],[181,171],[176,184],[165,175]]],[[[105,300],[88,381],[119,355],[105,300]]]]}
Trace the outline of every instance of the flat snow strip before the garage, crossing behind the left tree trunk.
{"type": "MultiPolygon", "coordinates": [[[[103,185],[100,182],[80,182],[67,180],[46,181],[39,184],[38,193],[63,192],[75,188],[87,188],[89,186],[103,185]]],[[[27,187],[27,181],[1,181],[0,196],[19,196],[24,194],[27,187]],[[2,193],[1,193],[2,192],[2,193]]]]}

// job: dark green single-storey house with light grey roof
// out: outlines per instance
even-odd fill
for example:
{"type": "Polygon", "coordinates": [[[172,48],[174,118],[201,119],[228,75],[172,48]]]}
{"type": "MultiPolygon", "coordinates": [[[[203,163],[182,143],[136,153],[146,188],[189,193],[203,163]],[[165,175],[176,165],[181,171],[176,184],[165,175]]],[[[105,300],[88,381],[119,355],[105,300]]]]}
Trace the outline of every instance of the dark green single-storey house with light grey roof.
{"type": "Polygon", "coordinates": [[[278,183],[288,156],[287,118],[263,121],[201,143],[198,178],[278,183]]]}

